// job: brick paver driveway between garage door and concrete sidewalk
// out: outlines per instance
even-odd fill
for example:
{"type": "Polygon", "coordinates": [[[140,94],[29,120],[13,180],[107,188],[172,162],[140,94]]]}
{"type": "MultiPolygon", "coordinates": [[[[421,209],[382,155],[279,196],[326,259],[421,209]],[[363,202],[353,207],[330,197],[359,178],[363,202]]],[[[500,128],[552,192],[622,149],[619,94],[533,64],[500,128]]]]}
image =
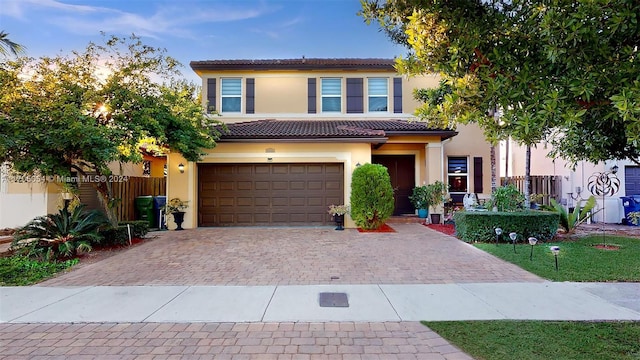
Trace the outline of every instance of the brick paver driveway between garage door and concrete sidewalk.
{"type": "Polygon", "coordinates": [[[204,228],[157,238],[43,286],[539,282],[419,224],[395,233],[333,228],[204,228]]]}

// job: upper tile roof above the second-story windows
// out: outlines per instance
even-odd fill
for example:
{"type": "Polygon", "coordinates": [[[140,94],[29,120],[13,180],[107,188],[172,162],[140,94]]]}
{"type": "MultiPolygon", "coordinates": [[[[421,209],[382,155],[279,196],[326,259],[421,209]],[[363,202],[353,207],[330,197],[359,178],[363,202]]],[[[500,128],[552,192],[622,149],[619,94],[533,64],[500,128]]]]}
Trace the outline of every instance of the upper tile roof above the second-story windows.
{"type": "Polygon", "coordinates": [[[386,70],[395,71],[393,59],[241,59],[241,60],[204,60],[189,63],[194,71],[220,70],[386,70]]]}

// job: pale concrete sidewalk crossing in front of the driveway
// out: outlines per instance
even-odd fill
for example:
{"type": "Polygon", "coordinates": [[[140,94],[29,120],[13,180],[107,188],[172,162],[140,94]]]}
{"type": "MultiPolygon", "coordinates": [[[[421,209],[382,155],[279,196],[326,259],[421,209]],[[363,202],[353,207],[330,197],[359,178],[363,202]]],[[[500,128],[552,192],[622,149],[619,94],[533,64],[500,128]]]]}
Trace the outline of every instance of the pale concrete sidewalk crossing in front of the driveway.
{"type": "Polygon", "coordinates": [[[0,304],[2,323],[640,320],[640,283],[31,286],[0,288],[0,304]]]}

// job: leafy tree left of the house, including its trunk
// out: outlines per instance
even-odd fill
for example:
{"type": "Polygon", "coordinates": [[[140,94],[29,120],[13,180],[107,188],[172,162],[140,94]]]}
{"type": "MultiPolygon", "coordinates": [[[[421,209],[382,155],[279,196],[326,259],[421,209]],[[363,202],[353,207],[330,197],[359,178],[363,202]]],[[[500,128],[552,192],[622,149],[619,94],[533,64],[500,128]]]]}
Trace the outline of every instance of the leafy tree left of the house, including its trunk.
{"type": "MultiPolygon", "coordinates": [[[[0,162],[19,173],[104,179],[112,162],[140,162],[141,142],[196,161],[215,146],[197,86],[180,64],[136,36],[71,55],[0,62],[0,162]]],[[[91,183],[112,224],[108,181],[91,183]]]]}

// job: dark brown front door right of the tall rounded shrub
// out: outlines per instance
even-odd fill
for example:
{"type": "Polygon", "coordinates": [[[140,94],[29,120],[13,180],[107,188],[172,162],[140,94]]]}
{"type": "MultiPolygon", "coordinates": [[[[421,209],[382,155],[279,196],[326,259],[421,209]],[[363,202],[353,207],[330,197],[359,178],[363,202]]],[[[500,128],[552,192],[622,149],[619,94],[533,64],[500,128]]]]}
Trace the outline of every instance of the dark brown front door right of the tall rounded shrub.
{"type": "Polygon", "coordinates": [[[414,214],[409,195],[413,192],[415,182],[414,155],[372,155],[371,163],[387,168],[394,190],[395,208],[393,215],[414,214]]]}

